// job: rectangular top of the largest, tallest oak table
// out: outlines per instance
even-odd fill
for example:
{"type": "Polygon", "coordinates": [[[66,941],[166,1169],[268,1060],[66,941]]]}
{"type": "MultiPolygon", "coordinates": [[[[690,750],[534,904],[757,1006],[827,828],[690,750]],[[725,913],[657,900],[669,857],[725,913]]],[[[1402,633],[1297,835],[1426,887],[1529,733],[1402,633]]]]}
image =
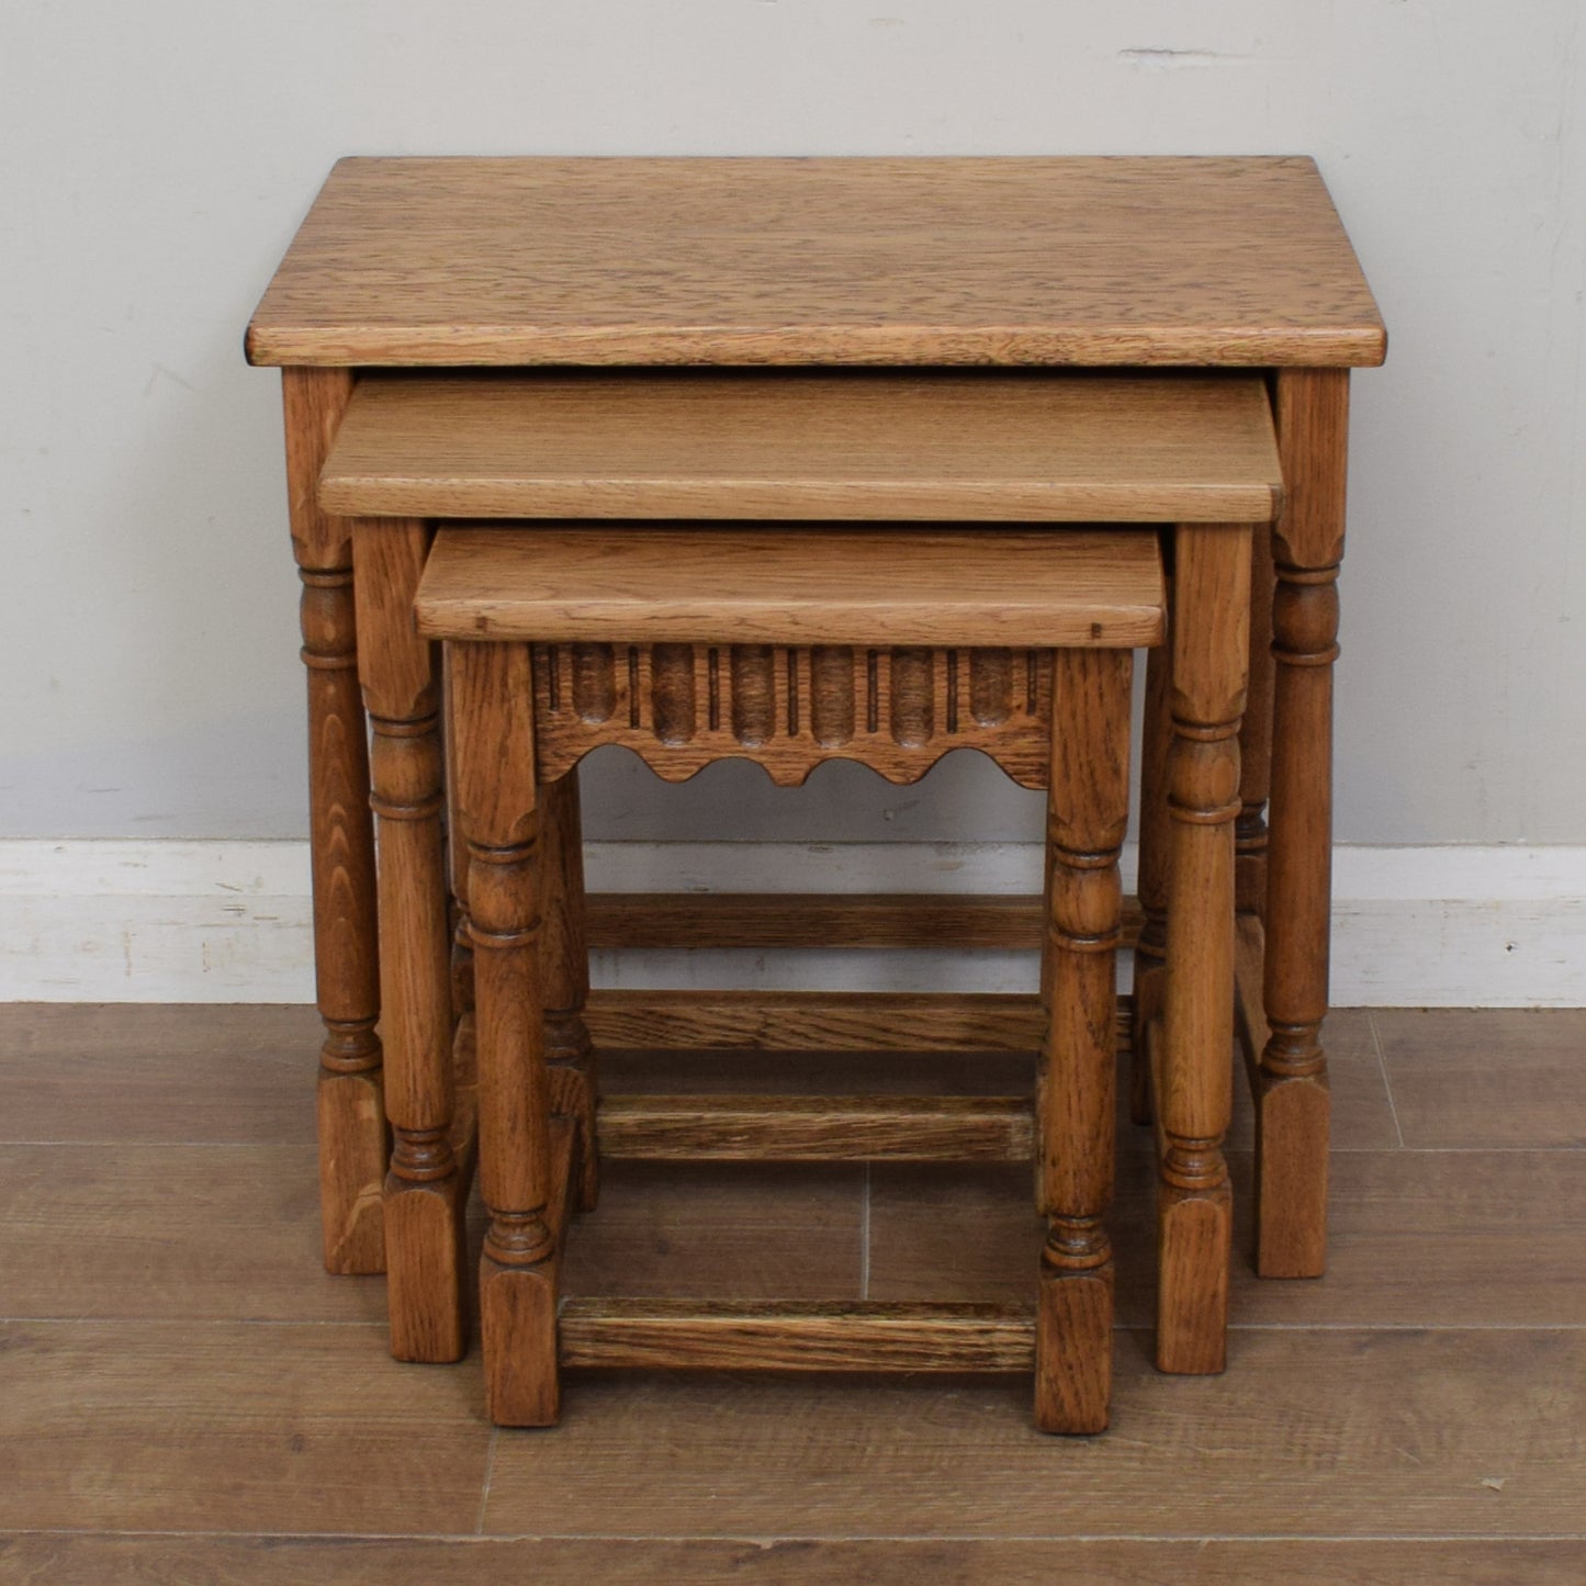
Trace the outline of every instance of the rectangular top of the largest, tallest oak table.
{"type": "Polygon", "coordinates": [[[262,365],[1361,366],[1315,162],[347,159],[262,365]]]}

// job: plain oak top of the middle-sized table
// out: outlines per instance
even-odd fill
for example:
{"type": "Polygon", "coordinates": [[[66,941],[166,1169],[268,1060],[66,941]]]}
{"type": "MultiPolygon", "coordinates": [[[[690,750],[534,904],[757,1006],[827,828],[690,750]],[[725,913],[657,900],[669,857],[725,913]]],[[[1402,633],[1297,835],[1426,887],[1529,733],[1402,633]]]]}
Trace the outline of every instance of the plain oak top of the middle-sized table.
{"type": "Polygon", "coordinates": [[[371,374],[319,492],[360,517],[1269,523],[1281,473],[1253,376],[371,374]]]}

